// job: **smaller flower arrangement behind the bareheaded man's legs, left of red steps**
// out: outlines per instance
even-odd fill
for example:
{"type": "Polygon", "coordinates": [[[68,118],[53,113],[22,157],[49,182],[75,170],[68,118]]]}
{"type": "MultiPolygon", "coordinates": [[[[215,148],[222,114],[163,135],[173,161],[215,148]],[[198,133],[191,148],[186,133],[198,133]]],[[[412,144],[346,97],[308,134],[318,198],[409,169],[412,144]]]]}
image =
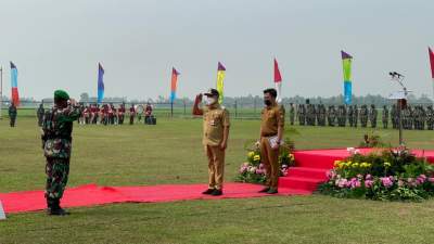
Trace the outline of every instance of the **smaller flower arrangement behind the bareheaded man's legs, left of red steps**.
{"type": "MultiPolygon", "coordinates": [[[[280,176],[286,176],[289,168],[295,165],[293,143],[282,144],[279,155],[280,176]]],[[[257,145],[247,150],[246,162],[240,166],[235,181],[248,183],[264,183],[266,181],[266,167],[261,163],[260,150],[257,145]]]]}

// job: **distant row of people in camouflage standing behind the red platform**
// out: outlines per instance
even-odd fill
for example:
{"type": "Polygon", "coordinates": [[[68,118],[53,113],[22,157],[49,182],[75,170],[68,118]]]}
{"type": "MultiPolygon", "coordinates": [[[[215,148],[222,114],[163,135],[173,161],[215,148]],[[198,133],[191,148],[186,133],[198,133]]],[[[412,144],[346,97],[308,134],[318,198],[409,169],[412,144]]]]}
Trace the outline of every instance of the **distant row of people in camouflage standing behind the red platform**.
{"type": "MultiPolygon", "coordinates": [[[[401,110],[403,129],[407,130],[434,130],[434,110],[432,105],[407,105],[401,110]]],[[[378,127],[379,110],[375,105],[329,105],[324,104],[290,104],[291,125],[298,121],[299,126],[330,126],[330,127],[357,127],[360,123],[362,128],[378,127]]],[[[384,105],[381,110],[381,121],[383,128],[387,129],[390,121],[392,128],[399,128],[399,113],[397,105],[388,107],[384,105]]]]}

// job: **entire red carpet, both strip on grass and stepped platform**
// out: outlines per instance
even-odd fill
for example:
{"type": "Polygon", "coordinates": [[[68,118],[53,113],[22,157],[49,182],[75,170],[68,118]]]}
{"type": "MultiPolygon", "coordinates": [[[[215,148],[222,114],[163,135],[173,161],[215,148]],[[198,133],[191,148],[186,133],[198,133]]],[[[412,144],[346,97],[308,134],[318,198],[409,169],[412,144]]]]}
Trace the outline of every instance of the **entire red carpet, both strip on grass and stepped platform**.
{"type": "MultiPolygon", "coordinates": [[[[372,152],[360,150],[362,154],[372,152]]],[[[434,151],[413,151],[434,163],[434,151]]],[[[348,157],[346,150],[311,150],[294,153],[296,166],[290,168],[286,177],[279,179],[279,195],[311,194],[318,184],[324,182],[327,170],[333,168],[334,160],[348,157]]],[[[62,201],[64,207],[93,206],[108,203],[159,203],[188,200],[244,198],[267,196],[257,193],[258,184],[227,183],[225,194],[219,197],[202,195],[204,184],[154,185],[154,187],[98,187],[88,184],[66,190],[62,201]]],[[[46,208],[43,191],[0,193],[5,213],[33,211],[46,208]]]]}

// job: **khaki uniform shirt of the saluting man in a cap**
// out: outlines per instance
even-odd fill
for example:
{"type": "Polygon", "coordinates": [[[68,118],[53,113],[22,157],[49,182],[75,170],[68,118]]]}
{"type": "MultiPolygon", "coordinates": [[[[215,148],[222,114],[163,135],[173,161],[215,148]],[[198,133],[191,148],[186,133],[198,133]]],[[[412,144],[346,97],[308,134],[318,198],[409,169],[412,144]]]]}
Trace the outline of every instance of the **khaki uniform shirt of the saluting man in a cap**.
{"type": "Polygon", "coordinates": [[[229,113],[220,105],[203,108],[203,144],[216,146],[224,139],[224,128],[229,127],[229,113]]]}

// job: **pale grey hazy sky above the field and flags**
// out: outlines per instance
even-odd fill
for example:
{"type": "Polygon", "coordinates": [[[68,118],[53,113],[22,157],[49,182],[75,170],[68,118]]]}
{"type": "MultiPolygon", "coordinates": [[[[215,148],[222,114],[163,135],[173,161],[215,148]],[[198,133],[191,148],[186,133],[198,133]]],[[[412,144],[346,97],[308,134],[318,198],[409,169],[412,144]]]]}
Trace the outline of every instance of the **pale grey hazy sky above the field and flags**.
{"type": "Polygon", "coordinates": [[[356,95],[397,90],[397,70],[432,98],[433,13],[433,0],[2,0],[3,89],[13,61],[21,97],[95,95],[101,62],[106,97],[168,97],[173,66],[178,97],[193,97],[215,86],[221,61],[226,94],[255,95],[272,86],[276,56],[284,97],[330,97],[343,90],[345,50],[356,95]]]}

